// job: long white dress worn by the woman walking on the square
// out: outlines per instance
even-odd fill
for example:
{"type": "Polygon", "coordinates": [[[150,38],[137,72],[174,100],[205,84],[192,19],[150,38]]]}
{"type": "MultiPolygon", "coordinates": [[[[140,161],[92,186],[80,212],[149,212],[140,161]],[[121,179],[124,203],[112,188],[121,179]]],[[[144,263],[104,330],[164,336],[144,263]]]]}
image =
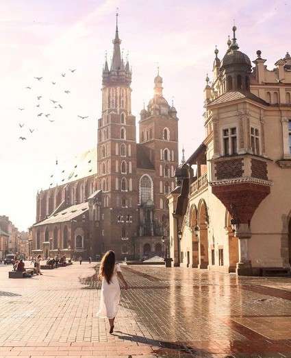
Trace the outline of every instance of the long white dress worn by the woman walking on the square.
{"type": "Polygon", "coordinates": [[[119,287],[117,272],[121,272],[121,267],[116,263],[112,274],[111,282],[108,284],[105,278],[102,279],[100,309],[97,315],[100,318],[114,318],[118,312],[119,298],[121,297],[121,287],[119,287]]]}

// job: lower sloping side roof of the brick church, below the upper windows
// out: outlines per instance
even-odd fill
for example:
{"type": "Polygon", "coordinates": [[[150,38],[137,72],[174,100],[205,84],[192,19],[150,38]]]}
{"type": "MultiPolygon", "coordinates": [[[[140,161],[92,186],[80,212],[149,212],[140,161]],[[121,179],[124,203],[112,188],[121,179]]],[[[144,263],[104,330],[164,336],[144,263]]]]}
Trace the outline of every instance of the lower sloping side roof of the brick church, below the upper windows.
{"type": "Polygon", "coordinates": [[[75,219],[75,217],[78,217],[79,215],[86,213],[86,211],[88,210],[89,210],[89,203],[82,202],[81,204],[69,206],[68,208],[65,208],[59,213],[53,214],[47,219],[42,220],[42,222],[38,222],[33,226],[35,227],[35,226],[41,226],[47,224],[56,224],[58,222],[69,222],[72,219],[75,219]]]}

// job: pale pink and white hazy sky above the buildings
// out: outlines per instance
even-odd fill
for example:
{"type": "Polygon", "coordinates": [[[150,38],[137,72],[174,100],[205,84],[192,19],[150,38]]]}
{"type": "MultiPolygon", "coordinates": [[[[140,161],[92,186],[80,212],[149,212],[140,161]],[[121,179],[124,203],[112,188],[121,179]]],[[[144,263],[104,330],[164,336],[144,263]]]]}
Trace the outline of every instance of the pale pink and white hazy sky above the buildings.
{"type": "Polygon", "coordinates": [[[132,114],[138,123],[143,100],[147,105],[153,97],[158,62],[164,97],[169,104],[174,97],[179,117],[180,158],[182,145],[187,158],[204,139],[205,77],[212,80],[215,45],[220,59],[227,50],[233,19],[240,51],[251,60],[260,49],[272,69],[291,52],[291,0],[1,0],[0,215],[19,230],[34,224],[36,193],[47,189],[55,158],[97,145],[101,73],[105,51],[112,56],[116,8],[133,71],[132,114]]]}

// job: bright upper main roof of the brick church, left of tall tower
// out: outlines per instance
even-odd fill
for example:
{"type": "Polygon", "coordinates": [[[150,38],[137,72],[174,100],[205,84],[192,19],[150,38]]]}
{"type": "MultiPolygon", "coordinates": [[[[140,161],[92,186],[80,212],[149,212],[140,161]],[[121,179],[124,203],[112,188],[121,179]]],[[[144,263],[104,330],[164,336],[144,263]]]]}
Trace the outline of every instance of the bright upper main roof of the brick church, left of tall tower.
{"type": "Polygon", "coordinates": [[[97,147],[91,150],[77,154],[63,162],[56,162],[47,188],[53,188],[57,185],[74,182],[86,176],[97,174],[97,147]]]}

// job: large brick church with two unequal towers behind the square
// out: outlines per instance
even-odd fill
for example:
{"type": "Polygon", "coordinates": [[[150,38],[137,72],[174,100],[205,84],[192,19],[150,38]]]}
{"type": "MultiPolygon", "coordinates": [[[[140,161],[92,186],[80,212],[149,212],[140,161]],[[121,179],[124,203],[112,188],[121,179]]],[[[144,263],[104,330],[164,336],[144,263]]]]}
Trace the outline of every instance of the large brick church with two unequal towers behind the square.
{"type": "MultiPolygon", "coordinates": [[[[117,19],[117,17],[116,17],[117,19]]],[[[91,256],[114,250],[118,260],[163,254],[168,236],[166,195],[178,165],[177,111],[163,97],[162,77],[136,117],[131,114],[131,69],[121,58],[118,25],[110,67],[105,61],[97,147],[57,163],[49,189],[36,198],[31,255],[91,256]]]]}

